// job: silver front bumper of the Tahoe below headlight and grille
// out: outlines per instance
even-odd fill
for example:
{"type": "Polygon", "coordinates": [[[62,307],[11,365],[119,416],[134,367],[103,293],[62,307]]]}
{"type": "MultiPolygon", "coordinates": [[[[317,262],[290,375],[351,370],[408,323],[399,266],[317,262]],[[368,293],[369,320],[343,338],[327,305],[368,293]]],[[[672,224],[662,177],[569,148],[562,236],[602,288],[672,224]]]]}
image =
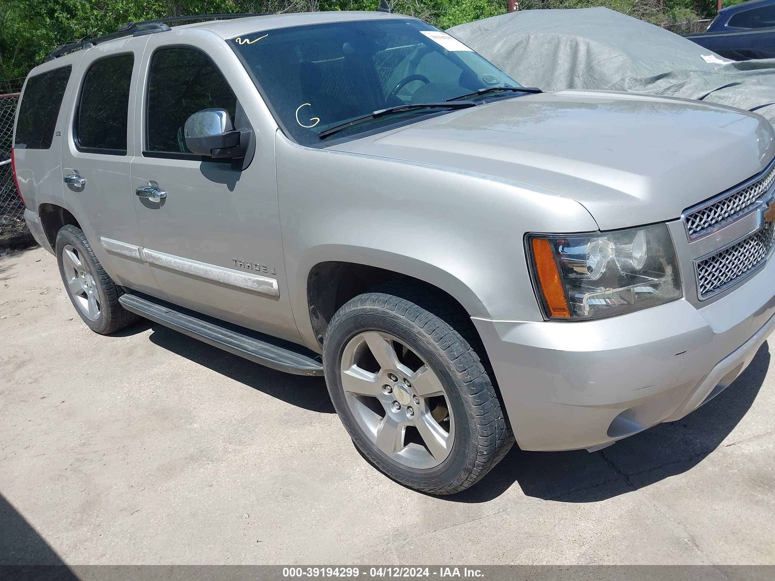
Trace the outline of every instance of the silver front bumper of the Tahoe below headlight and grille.
{"type": "Polygon", "coordinates": [[[518,445],[595,449],[674,421],[729,386],[775,327],[775,260],[711,304],[599,321],[474,318],[518,445]]]}

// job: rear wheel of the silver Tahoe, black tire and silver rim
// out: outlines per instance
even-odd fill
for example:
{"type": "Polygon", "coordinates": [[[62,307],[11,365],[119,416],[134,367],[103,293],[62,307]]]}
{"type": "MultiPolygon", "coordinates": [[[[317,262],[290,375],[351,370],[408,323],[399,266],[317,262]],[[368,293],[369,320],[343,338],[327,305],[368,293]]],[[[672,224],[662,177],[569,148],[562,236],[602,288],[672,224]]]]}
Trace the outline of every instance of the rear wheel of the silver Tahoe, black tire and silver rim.
{"type": "Polygon", "coordinates": [[[140,318],[121,306],[121,287],[105,273],[80,228],[63,226],[57,233],[55,246],[67,296],[88,328],[100,335],[109,335],[140,318]],[[92,310],[94,305],[97,312],[92,310]]]}

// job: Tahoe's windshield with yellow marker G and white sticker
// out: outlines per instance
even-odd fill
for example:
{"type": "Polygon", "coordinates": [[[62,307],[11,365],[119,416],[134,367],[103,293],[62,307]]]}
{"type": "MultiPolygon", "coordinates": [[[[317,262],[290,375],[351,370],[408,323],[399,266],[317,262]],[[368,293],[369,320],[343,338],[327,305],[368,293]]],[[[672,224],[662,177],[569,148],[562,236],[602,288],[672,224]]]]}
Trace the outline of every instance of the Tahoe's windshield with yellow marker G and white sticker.
{"type": "MultiPolygon", "coordinates": [[[[483,88],[520,86],[452,36],[413,19],[263,30],[229,43],[286,134],[308,146],[325,144],[319,133],[326,129],[380,109],[438,103],[483,88]]],[[[396,112],[336,136],[449,110],[396,112]]]]}

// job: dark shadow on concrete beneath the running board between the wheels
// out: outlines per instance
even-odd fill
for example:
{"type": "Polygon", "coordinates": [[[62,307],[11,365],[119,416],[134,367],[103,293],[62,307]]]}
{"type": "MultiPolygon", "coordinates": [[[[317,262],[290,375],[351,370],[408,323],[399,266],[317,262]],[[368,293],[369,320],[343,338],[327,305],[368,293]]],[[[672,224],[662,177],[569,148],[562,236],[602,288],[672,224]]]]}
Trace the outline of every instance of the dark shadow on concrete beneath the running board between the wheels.
{"type": "Polygon", "coordinates": [[[133,335],[147,328],[153,329],[150,340],[154,344],[208,367],[215,373],[230,377],[288,404],[322,414],[334,413],[334,406],[322,377],[275,371],[150,321],[138,322],[127,328],[126,334],[133,335]]]}

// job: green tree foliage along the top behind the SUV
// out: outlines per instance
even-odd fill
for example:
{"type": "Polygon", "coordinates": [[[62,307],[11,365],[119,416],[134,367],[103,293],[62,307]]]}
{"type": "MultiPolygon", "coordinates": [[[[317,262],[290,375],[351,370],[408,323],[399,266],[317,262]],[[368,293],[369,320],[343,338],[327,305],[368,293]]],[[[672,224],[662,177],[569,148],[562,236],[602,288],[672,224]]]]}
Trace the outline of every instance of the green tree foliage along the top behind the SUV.
{"type": "MultiPolygon", "coordinates": [[[[506,0],[389,2],[395,12],[441,28],[506,12],[506,0]]],[[[0,0],[0,79],[24,77],[57,46],[112,33],[133,20],[217,12],[373,10],[377,4],[378,0],[0,0]]],[[[715,0],[522,0],[520,9],[600,5],[656,24],[710,18],[715,13],[715,0]]],[[[18,81],[7,81],[0,91],[15,85],[18,81]]]]}

